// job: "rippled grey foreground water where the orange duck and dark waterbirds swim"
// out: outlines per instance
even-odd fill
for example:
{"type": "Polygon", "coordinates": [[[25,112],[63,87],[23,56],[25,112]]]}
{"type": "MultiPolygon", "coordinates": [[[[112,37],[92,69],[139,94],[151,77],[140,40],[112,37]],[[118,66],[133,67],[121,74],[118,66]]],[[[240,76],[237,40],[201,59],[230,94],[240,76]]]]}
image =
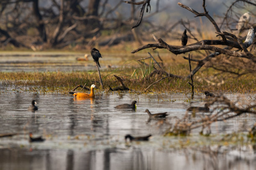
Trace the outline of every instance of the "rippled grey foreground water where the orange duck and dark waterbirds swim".
{"type": "MultiPolygon", "coordinates": [[[[255,102],[255,94],[225,94],[242,104],[255,102]],[[239,97],[239,98],[238,98],[239,97]]],[[[212,124],[211,137],[164,137],[162,134],[182,118],[186,109],[203,106],[203,94],[192,104],[184,94],[98,93],[95,99],[77,100],[65,94],[0,94],[0,170],[150,170],[150,169],[254,169],[253,146],[219,147],[223,134],[246,132],[256,117],[241,117],[212,124]],[[27,110],[35,99],[38,111],[27,110]],[[137,109],[119,110],[118,104],[137,101],[137,109]],[[168,112],[165,120],[151,120],[144,112],[168,112]],[[29,143],[28,132],[46,141],[29,143]],[[125,134],[153,137],[148,142],[125,143],[125,134]],[[189,142],[189,147],[183,147],[189,142]],[[218,149],[219,148],[219,149],[218,149]],[[218,150],[218,153],[216,152],[218,150]]]]}

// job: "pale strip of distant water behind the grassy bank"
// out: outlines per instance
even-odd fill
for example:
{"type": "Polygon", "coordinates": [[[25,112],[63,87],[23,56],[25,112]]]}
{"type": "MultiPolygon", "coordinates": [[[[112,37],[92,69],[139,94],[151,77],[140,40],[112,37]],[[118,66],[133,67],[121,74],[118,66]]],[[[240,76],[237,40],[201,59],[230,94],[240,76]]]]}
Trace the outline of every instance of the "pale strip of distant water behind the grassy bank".
{"type": "MultiPolygon", "coordinates": [[[[87,61],[84,53],[68,52],[4,52],[0,53],[0,71],[88,71],[96,70],[90,53],[87,61]]],[[[122,64],[127,56],[123,54],[104,54],[100,58],[101,69],[115,68],[122,64]],[[125,56],[125,57],[124,57],[125,56]],[[121,63],[120,63],[121,61],[121,63]]]]}

